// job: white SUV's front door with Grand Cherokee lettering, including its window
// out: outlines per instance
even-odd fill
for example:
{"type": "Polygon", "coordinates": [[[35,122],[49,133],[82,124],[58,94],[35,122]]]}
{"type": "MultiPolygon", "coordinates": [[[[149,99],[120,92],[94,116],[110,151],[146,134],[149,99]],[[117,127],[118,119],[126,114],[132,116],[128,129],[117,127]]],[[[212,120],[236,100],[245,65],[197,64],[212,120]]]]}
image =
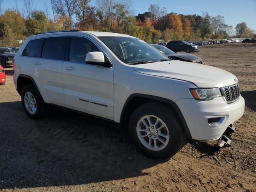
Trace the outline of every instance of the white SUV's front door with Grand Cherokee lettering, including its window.
{"type": "Polygon", "coordinates": [[[93,39],[70,35],[69,41],[69,55],[62,68],[66,107],[113,119],[114,67],[85,62],[88,52],[101,51],[93,39]]]}

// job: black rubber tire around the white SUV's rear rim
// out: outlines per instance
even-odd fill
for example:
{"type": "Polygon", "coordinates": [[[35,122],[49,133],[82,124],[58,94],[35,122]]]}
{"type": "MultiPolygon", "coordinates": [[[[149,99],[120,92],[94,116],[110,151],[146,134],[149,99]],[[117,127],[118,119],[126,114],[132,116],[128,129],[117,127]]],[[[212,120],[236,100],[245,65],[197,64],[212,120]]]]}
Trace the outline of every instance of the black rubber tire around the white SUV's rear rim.
{"type": "Polygon", "coordinates": [[[47,116],[47,106],[44,103],[44,101],[42,100],[42,97],[41,97],[39,91],[37,90],[37,88],[33,84],[26,85],[22,89],[21,102],[22,102],[22,106],[23,106],[26,114],[30,118],[32,118],[32,119],[42,119],[42,118],[45,118],[47,116]],[[26,92],[32,93],[35,100],[36,100],[36,112],[34,114],[31,114],[30,112],[28,112],[28,110],[25,106],[24,97],[25,97],[26,92]]]}

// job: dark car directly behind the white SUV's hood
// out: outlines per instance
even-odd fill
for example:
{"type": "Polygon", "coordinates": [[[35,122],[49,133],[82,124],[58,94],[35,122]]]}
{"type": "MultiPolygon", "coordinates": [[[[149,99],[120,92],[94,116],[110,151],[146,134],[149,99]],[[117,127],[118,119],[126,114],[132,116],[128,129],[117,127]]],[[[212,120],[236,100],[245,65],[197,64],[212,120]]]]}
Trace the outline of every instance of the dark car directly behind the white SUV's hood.
{"type": "Polygon", "coordinates": [[[187,61],[193,63],[200,63],[204,65],[204,61],[202,58],[192,55],[192,54],[184,54],[184,53],[174,53],[172,50],[166,48],[165,46],[158,44],[151,44],[154,48],[157,48],[162,53],[166,54],[169,58],[180,61],[187,61]]]}

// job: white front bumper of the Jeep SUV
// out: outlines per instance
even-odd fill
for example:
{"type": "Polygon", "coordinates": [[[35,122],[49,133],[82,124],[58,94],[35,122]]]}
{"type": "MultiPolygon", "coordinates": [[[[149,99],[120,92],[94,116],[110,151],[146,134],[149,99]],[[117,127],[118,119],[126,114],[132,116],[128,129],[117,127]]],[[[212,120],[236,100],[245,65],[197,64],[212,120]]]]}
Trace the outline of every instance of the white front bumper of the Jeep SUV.
{"type": "Polygon", "coordinates": [[[219,139],[226,128],[244,114],[244,98],[242,96],[230,104],[227,104],[224,97],[206,101],[179,99],[176,104],[180,108],[194,140],[219,139]],[[208,124],[208,118],[219,117],[224,117],[221,124],[216,126],[208,124]]]}

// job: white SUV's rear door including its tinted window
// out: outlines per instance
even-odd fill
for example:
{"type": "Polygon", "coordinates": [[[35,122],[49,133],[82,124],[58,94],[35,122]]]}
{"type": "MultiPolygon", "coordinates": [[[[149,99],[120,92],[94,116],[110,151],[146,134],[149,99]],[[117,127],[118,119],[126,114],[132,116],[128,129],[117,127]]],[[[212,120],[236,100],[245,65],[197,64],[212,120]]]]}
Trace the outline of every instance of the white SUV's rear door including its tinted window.
{"type": "Polygon", "coordinates": [[[41,51],[41,58],[32,62],[30,73],[34,78],[44,101],[65,105],[62,65],[65,59],[67,36],[47,36],[41,51]]]}

